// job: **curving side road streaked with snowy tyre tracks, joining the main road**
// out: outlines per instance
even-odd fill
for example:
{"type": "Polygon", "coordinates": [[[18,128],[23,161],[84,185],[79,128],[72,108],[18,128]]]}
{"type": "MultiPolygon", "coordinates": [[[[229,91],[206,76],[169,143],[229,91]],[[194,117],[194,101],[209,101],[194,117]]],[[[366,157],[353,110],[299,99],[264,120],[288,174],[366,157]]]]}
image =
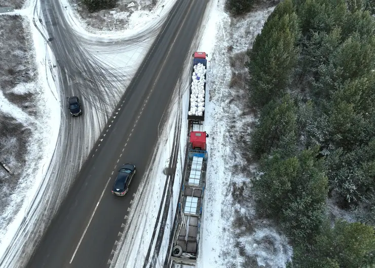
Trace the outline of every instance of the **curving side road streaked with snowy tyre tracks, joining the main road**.
{"type": "Polygon", "coordinates": [[[102,59],[108,52],[121,55],[134,47],[146,48],[148,40],[160,32],[165,18],[135,35],[110,42],[105,38],[87,38],[74,31],[66,21],[65,9],[59,0],[36,2],[34,19],[43,24],[39,26],[40,32],[49,40],[48,46],[57,60],[53,66],[53,61],[46,59],[46,72],[53,70],[55,74],[62,100],[61,124],[52,160],[43,166],[46,176],[36,197],[27,200],[23,221],[1,257],[0,267],[26,265],[134,76],[134,66],[113,68],[102,59]],[[81,97],[84,116],[71,118],[69,115],[66,98],[72,95],[81,97]]]}

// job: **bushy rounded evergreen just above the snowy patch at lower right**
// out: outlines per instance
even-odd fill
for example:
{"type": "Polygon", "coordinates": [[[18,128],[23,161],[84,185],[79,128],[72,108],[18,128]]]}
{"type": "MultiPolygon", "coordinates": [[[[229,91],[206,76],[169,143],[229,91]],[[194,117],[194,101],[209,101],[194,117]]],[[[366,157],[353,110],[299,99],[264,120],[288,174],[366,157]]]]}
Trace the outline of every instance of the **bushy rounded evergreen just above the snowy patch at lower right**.
{"type": "Polygon", "coordinates": [[[324,219],[327,178],[319,148],[283,159],[273,154],[262,161],[264,172],[253,181],[258,211],[280,221],[289,237],[310,241],[324,219]]]}

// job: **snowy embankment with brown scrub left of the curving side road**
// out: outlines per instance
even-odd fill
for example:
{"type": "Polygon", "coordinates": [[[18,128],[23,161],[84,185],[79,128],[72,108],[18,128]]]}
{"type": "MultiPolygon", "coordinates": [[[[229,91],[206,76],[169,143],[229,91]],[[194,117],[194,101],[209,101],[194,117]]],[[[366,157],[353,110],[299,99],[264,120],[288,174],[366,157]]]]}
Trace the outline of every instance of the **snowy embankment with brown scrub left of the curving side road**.
{"type": "MultiPolygon", "coordinates": [[[[33,25],[33,6],[33,2],[28,2],[24,9],[10,13],[13,19],[7,14],[0,15],[0,19],[8,18],[0,21],[8,26],[11,25],[10,21],[20,17],[22,25],[9,29],[9,38],[6,31],[0,34],[7,38],[1,43],[3,48],[11,46],[13,52],[16,50],[16,53],[9,54],[9,57],[12,57],[8,58],[10,62],[20,61],[26,70],[32,72],[29,81],[22,81],[25,73],[22,76],[17,71],[11,74],[17,80],[12,89],[7,89],[5,80],[2,80],[0,85],[0,117],[5,120],[0,123],[0,161],[6,162],[12,172],[6,174],[3,170],[0,171],[0,177],[6,180],[1,189],[2,193],[6,194],[2,195],[0,257],[4,255],[18,226],[24,221],[33,203],[33,196],[40,190],[55,150],[60,125],[60,110],[56,109],[60,106],[60,100],[54,82],[54,59],[45,40],[33,25]],[[24,36],[20,38],[26,40],[27,50],[18,48],[17,41],[14,40],[17,38],[15,32],[19,32],[20,27],[24,29],[24,36]],[[7,196],[8,198],[3,198],[7,196]]],[[[15,70],[22,70],[22,65],[15,66],[15,70]]]]}

